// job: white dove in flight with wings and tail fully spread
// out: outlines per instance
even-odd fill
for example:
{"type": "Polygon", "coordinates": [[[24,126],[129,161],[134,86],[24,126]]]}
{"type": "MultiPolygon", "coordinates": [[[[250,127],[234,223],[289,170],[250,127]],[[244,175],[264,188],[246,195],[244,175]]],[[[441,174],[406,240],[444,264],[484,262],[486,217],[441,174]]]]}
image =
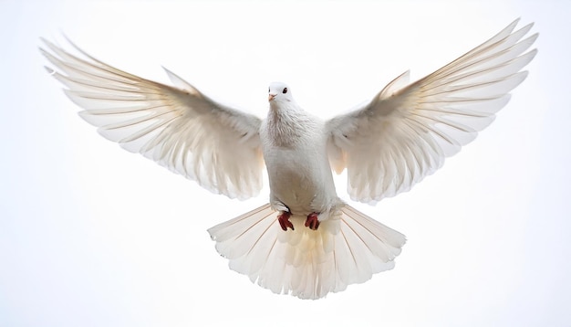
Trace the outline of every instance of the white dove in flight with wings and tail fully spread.
{"type": "Polygon", "coordinates": [[[228,108],[166,70],[141,79],[46,41],[47,70],[99,133],[216,194],[270,202],[208,231],[231,269],[275,293],[318,299],[394,267],[405,237],[343,202],[332,169],[360,202],[410,190],[488,126],[535,57],[518,20],[427,77],[394,79],[358,110],[322,121],[272,83],[265,120],[228,108]]]}

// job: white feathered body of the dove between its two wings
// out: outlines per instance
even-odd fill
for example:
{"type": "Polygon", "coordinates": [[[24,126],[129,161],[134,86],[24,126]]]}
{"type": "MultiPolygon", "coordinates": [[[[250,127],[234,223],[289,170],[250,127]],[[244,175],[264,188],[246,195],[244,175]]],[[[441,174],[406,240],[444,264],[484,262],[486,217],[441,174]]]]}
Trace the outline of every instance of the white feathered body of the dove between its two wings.
{"type": "MultiPolygon", "coordinates": [[[[285,88],[281,83],[272,85],[279,89],[277,94],[285,88]]],[[[318,213],[323,220],[342,204],[329,166],[325,128],[324,121],[301,109],[291,98],[270,102],[260,138],[270,204],[276,210],[302,216],[318,213]]]]}

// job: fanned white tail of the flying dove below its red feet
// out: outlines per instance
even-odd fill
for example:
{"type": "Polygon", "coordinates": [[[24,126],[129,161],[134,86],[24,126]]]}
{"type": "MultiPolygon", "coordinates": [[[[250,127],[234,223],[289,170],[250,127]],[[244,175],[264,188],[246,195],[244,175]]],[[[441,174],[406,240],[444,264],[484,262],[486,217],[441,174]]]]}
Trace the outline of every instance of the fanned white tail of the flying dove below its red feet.
{"type": "Polygon", "coordinates": [[[208,230],[229,266],[275,293],[319,299],[392,269],[405,237],[351,206],[321,222],[291,216],[295,230],[283,231],[277,212],[260,206],[208,230]]]}

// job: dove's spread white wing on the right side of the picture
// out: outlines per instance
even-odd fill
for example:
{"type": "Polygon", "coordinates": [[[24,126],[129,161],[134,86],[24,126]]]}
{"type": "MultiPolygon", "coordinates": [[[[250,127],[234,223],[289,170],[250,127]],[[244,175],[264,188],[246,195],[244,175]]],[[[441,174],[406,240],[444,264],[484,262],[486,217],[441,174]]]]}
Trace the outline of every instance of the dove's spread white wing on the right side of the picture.
{"type": "Polygon", "coordinates": [[[514,32],[517,22],[423,79],[409,84],[405,72],[364,107],[327,121],[329,160],[337,173],[347,168],[352,199],[410,190],[493,121],[536,54],[524,53],[537,38],[524,38],[533,24],[514,32]]]}

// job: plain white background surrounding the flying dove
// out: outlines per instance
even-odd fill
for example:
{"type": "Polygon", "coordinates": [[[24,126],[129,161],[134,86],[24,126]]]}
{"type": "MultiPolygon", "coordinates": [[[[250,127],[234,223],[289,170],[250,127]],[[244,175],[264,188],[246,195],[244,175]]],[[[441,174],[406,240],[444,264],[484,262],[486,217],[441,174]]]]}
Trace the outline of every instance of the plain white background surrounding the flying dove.
{"type": "MultiPolygon", "coordinates": [[[[536,2],[0,1],[0,326],[569,326],[571,6],[536,2]],[[358,206],[408,237],[396,268],[319,301],[227,268],[212,195],[101,138],[38,37],[263,117],[285,81],[323,117],[419,79],[516,17],[539,54],[494,123],[410,193],[358,206]]],[[[342,179],[339,184],[342,184],[342,179]]],[[[339,193],[345,195],[339,187],[339,193]]]]}

